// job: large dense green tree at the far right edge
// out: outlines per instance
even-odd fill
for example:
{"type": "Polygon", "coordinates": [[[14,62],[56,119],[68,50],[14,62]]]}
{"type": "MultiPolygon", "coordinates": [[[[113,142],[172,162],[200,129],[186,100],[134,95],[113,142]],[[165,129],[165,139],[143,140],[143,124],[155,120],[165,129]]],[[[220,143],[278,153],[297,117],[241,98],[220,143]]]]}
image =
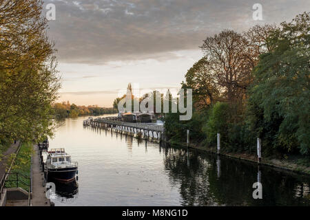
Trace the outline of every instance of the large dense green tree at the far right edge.
{"type": "Polygon", "coordinates": [[[267,39],[249,98],[249,122],[274,148],[309,154],[309,13],[282,22],[267,39]]]}

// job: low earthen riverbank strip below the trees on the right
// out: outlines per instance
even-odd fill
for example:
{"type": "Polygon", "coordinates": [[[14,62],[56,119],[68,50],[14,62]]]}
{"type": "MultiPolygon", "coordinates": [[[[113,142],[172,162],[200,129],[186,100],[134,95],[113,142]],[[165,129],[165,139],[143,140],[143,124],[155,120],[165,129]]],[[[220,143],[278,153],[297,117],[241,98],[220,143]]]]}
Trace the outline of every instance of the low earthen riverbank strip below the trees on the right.
{"type": "MultiPolygon", "coordinates": [[[[178,145],[178,146],[183,146],[187,147],[186,143],[180,143],[180,142],[171,142],[167,141],[167,143],[172,144],[172,145],[178,145]]],[[[196,149],[198,151],[204,151],[208,153],[217,153],[216,147],[209,147],[207,148],[206,146],[203,146],[202,144],[189,144],[189,148],[196,149]]],[[[234,159],[242,159],[247,162],[251,163],[258,163],[258,157],[254,154],[249,154],[249,153],[232,153],[232,152],[225,152],[222,151],[220,152],[220,155],[224,155],[226,157],[231,157],[234,159]]],[[[298,159],[276,159],[276,158],[271,158],[271,157],[262,157],[262,160],[260,164],[265,165],[265,166],[271,166],[273,168],[279,168],[282,170],[288,170],[293,173],[298,173],[300,175],[310,175],[310,166],[304,166],[302,164],[298,164],[298,159]]]]}

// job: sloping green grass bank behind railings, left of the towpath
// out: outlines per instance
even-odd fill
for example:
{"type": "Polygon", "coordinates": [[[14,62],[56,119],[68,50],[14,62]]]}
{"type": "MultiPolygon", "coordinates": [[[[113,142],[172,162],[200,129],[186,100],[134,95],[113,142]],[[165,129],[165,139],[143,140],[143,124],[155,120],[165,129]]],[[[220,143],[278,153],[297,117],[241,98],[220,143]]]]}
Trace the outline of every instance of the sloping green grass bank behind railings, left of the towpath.
{"type": "MultiPolygon", "coordinates": [[[[10,173],[20,173],[19,175],[19,187],[23,188],[24,190],[29,190],[29,187],[26,184],[30,184],[30,168],[31,168],[31,157],[32,157],[32,144],[31,143],[23,143],[21,144],[21,148],[17,155],[17,158],[12,166],[10,173]],[[25,184],[24,184],[25,183],[25,184]]],[[[9,163],[12,162],[12,159],[15,157],[15,154],[12,154],[9,160],[9,163]]],[[[16,180],[17,175],[9,175],[8,182],[6,183],[7,188],[14,188],[17,187],[17,181],[10,181],[16,180]]]]}

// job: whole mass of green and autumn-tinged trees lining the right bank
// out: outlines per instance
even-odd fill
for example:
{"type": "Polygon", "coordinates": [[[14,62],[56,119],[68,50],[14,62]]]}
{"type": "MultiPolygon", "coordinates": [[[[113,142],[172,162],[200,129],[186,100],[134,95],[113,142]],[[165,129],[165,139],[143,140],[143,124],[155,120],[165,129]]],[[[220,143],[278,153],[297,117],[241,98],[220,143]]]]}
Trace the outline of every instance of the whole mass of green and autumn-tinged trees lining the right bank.
{"type": "Polygon", "coordinates": [[[309,21],[309,12],[304,12],[290,23],[282,22],[280,27],[255,26],[242,38],[234,32],[208,37],[202,47],[207,56],[187,71],[183,83],[183,87],[193,89],[196,107],[193,119],[180,122],[178,114],[167,115],[168,137],[185,142],[185,132],[189,129],[192,142],[195,138],[196,142],[205,138],[207,146],[215,146],[216,134],[220,133],[225,151],[248,153],[256,153],[256,138],[260,137],[264,155],[283,157],[299,153],[307,157],[310,153],[309,21]],[[227,36],[238,36],[236,39],[242,40],[236,41],[240,48],[227,46],[230,40],[227,36]],[[251,53],[243,54],[243,43],[251,47],[251,53]],[[236,48],[240,53],[236,53],[236,48]],[[251,67],[238,65],[240,78],[230,72],[234,69],[230,67],[234,63],[230,61],[231,56],[227,56],[227,65],[223,61],[223,54],[229,50],[234,50],[234,58],[240,58],[240,62],[247,63],[244,58],[250,60],[251,67]]]}

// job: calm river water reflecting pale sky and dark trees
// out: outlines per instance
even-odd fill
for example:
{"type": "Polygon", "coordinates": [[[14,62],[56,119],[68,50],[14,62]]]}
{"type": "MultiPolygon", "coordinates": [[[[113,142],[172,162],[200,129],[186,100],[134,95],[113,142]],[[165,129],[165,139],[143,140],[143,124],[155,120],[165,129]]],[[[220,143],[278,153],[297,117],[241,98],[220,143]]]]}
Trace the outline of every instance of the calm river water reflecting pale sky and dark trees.
{"type": "Polygon", "coordinates": [[[55,206],[310,206],[309,177],[83,127],[85,118],[66,119],[50,140],[79,162],[77,181],[56,184],[55,206]]]}

